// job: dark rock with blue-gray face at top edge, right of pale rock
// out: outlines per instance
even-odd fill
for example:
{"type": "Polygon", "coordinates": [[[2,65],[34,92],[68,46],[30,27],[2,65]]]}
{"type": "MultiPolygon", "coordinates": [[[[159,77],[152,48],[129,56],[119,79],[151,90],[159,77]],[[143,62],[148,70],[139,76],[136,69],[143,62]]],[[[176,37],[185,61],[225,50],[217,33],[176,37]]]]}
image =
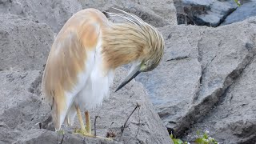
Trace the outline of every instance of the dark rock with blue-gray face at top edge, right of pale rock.
{"type": "Polygon", "coordinates": [[[178,24],[198,26],[218,26],[233,12],[237,5],[234,0],[175,0],[178,24]]]}

